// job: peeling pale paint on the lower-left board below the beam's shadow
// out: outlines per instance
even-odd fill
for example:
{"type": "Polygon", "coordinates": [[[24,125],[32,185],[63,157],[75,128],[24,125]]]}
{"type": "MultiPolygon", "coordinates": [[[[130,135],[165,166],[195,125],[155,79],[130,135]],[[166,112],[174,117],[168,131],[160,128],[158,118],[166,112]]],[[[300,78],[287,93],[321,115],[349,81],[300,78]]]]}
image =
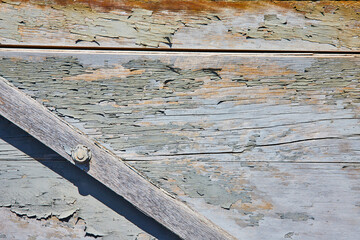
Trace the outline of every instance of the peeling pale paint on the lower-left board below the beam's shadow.
{"type": "Polygon", "coordinates": [[[7,219],[0,221],[0,232],[8,237],[20,239],[37,228],[43,229],[38,230],[39,234],[53,234],[46,239],[57,239],[56,232],[71,239],[104,236],[129,240],[142,233],[92,196],[80,195],[74,185],[35,160],[0,161],[0,180],[0,212],[11,211],[19,216],[12,225],[9,219],[14,216],[0,214],[7,219]],[[17,233],[18,224],[25,229],[17,233]],[[23,235],[19,238],[19,234],[23,235]]]}

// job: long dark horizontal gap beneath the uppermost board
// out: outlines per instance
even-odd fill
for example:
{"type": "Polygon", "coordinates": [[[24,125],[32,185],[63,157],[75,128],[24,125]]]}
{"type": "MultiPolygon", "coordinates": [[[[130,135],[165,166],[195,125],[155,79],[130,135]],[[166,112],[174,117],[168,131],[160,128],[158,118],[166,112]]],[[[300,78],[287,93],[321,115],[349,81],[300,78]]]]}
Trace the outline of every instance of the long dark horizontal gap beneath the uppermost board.
{"type": "Polygon", "coordinates": [[[0,48],[45,49],[45,50],[103,50],[103,51],[137,51],[137,52],[209,52],[209,53],[299,53],[299,54],[360,54],[358,50],[259,50],[259,49],[191,49],[191,48],[130,48],[130,47],[93,47],[93,46],[48,46],[0,44],[0,48]]]}

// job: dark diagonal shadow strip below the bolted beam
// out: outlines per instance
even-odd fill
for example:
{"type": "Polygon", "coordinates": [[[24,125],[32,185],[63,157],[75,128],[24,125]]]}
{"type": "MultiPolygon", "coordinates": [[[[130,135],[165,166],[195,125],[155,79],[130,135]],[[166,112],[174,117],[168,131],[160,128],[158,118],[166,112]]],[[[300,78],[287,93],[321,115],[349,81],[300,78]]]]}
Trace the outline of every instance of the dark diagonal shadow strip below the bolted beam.
{"type": "Polygon", "coordinates": [[[0,116],[0,139],[19,149],[73,183],[81,195],[91,195],[143,231],[157,239],[180,239],[173,232],[148,217],[123,197],[87,175],[28,133],[0,116]]]}

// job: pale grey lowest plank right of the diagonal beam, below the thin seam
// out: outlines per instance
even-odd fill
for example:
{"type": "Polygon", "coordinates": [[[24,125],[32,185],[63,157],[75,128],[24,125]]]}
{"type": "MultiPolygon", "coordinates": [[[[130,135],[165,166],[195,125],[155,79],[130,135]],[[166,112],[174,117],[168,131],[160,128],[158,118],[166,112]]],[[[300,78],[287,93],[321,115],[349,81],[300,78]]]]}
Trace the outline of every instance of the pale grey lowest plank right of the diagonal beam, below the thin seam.
{"type": "Polygon", "coordinates": [[[131,164],[240,239],[358,236],[359,164],[208,159],[131,164]]]}

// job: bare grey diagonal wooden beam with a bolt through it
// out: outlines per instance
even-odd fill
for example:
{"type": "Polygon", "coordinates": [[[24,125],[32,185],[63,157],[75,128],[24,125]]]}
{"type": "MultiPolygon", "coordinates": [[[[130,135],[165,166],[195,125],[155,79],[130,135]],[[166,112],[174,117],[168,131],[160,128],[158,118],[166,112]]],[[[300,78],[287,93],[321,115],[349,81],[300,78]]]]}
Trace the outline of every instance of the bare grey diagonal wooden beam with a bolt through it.
{"type": "Polygon", "coordinates": [[[89,175],[180,238],[235,239],[184,203],[148,182],[115,154],[90,140],[1,77],[0,114],[68,161],[87,171],[89,175]],[[78,145],[86,146],[90,150],[92,157],[88,163],[73,160],[71,150],[78,145]]]}

